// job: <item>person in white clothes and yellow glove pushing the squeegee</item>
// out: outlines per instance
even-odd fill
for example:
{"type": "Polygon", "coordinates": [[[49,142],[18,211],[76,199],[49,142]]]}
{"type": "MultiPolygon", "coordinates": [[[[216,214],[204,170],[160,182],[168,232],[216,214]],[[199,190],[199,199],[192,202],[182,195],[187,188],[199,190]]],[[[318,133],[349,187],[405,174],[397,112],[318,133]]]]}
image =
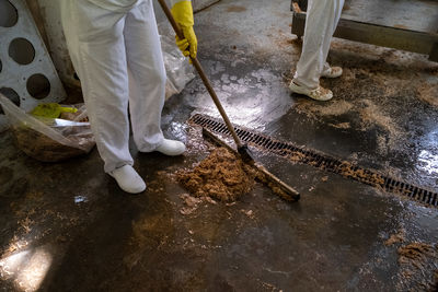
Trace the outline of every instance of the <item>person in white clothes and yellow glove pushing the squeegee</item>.
{"type": "MultiPolygon", "coordinates": [[[[87,110],[105,166],[119,187],[146,189],[129,153],[129,118],[140,152],[180,155],[184,143],[164,139],[160,127],[165,70],[152,0],[61,0],[62,26],[87,110]],[[128,80],[129,71],[129,80],[128,80]]],[[[193,9],[172,0],[172,14],[185,39],[184,56],[196,57],[193,9]]]]}

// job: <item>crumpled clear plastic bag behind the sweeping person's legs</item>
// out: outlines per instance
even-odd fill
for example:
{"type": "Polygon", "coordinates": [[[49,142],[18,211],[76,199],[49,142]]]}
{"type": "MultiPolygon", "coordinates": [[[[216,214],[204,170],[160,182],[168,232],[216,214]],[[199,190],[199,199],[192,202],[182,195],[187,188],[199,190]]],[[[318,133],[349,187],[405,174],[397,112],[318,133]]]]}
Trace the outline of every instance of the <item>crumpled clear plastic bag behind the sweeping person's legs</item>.
{"type": "Polygon", "coordinates": [[[168,74],[165,83],[165,98],[182,92],[185,85],[195,78],[193,66],[183,56],[175,44],[175,33],[168,22],[159,24],[161,49],[163,51],[164,67],[168,74]]]}

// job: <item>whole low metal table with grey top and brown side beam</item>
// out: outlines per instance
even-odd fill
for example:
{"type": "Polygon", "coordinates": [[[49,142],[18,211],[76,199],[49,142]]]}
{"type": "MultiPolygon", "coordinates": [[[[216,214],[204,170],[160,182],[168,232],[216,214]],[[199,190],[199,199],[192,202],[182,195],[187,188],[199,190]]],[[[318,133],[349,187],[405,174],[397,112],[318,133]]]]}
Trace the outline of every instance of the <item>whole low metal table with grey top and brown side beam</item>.
{"type": "MultiPolygon", "coordinates": [[[[307,0],[291,0],[292,34],[304,34],[307,0]]],[[[438,62],[437,0],[346,0],[334,36],[425,54],[438,62]]]]}

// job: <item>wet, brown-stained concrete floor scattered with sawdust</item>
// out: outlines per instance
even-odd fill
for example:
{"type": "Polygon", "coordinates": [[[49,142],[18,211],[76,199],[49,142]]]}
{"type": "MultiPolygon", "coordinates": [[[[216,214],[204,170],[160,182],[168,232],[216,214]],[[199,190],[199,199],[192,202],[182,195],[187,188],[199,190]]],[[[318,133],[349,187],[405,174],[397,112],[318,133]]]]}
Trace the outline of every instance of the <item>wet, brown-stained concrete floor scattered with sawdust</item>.
{"type": "MultiPolygon", "coordinates": [[[[290,20],[281,0],[222,0],[196,14],[199,59],[231,120],[438,191],[438,65],[334,39],[328,60],[345,73],[322,81],[333,101],[313,102],[287,89],[300,52],[290,20]]],[[[310,165],[255,149],[300,202],[257,184],[234,205],[201,201],[187,212],[173,174],[210,148],[185,124],[194,113],[218,116],[199,79],[163,112],[164,132],[186,142],[185,155],[138,153],[132,144],[148,184],[140,196],[117,188],[95,150],[45,164],[1,133],[0,290],[434,289],[437,253],[411,265],[399,262],[397,248],[436,245],[437,209],[310,165]],[[385,245],[394,234],[400,241],[385,245]]]]}

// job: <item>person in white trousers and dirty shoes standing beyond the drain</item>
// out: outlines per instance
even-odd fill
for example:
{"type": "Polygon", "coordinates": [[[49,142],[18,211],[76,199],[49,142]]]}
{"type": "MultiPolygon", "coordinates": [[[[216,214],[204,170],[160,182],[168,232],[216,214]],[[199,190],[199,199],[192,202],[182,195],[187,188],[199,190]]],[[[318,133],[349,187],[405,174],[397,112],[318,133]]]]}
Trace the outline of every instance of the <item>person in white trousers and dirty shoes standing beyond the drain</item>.
{"type": "Polygon", "coordinates": [[[333,93],[320,85],[320,78],[341,77],[341,67],[331,67],[327,55],[332,36],[339,21],[344,0],[309,0],[304,42],[297,71],[289,89],[316,101],[328,101],[333,93]]]}

